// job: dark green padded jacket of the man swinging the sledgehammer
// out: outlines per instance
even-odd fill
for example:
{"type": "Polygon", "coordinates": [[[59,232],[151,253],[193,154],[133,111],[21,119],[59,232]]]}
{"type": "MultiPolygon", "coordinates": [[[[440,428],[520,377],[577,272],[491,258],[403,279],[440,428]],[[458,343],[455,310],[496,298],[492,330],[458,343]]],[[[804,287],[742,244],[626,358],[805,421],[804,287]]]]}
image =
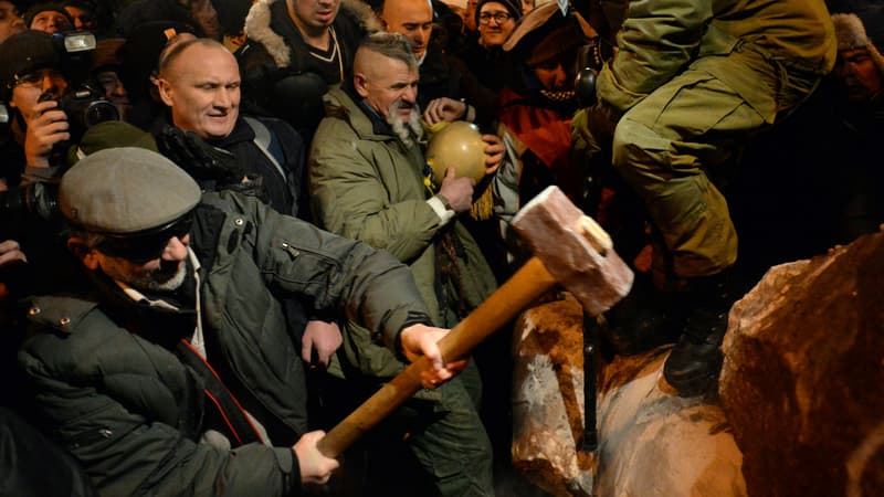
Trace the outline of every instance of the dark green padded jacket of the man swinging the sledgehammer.
{"type": "Polygon", "coordinates": [[[297,495],[291,445],[303,431],[306,399],[293,371],[299,345],[275,295],[346,315],[391,345],[404,326],[430,322],[425,306],[389,254],[235,193],[204,194],[191,248],[202,266],[203,332],[214,347],[208,360],[229,373],[220,374],[231,391],[246,393],[239,400],[276,447],[198,443],[202,380],[168,345],[127,329],[145,306],[114,306],[108,294],[33,300],[34,332],[19,360],[36,408],[102,495],[297,495]]]}

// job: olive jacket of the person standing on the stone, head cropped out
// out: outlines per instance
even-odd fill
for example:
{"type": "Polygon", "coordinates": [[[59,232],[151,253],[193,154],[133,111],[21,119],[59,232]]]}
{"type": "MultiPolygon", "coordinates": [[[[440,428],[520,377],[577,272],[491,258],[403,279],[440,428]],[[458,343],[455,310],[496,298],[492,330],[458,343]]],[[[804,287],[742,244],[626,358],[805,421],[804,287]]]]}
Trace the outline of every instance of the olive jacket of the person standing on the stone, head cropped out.
{"type": "MultiPolygon", "coordinates": [[[[695,60],[724,61],[740,44],[771,64],[818,75],[835,60],[834,28],[822,0],[632,0],[617,40],[617,56],[599,74],[598,96],[621,113],[695,60]]],[[[704,71],[772,121],[778,109],[771,88],[760,87],[751,71],[705,61],[704,71]]]]}

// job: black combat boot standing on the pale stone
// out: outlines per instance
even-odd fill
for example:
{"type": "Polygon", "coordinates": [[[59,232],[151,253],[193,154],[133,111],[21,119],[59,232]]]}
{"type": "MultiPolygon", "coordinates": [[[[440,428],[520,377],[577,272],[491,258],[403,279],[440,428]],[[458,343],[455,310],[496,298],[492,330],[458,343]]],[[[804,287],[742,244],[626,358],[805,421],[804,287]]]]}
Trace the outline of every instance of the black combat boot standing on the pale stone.
{"type": "Polygon", "coordinates": [[[730,306],[740,297],[733,271],[687,282],[682,307],[684,329],[672,348],[663,374],[681,396],[696,396],[717,385],[722,371],[722,340],[730,306]]]}

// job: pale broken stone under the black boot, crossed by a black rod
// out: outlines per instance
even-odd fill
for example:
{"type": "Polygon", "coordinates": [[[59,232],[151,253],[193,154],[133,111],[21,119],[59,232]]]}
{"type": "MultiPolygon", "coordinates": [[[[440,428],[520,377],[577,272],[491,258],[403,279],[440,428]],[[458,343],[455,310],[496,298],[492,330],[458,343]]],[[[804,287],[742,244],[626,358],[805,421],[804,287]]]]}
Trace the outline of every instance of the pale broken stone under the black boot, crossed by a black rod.
{"type": "Polygon", "coordinates": [[[599,450],[577,450],[582,317],[578,304],[559,300],[516,326],[514,466],[555,496],[745,496],[741,454],[720,408],[661,390],[665,348],[602,367],[599,450]]]}

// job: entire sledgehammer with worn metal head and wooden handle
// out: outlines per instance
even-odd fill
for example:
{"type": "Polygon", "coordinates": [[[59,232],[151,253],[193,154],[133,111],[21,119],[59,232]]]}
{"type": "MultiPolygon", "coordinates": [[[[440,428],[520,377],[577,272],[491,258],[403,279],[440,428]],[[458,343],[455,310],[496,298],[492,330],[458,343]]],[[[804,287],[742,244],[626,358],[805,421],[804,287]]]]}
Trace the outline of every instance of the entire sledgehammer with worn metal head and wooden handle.
{"type": "MultiPolygon", "coordinates": [[[[547,188],[526,204],[516,214],[513,226],[535,256],[439,340],[445,362],[466,357],[557,284],[573,294],[590,316],[608,310],[632,286],[632,271],[614,252],[608,233],[583,215],[558,188],[547,188]]],[[[420,390],[421,371],[430,368],[425,358],[412,362],[334,426],[319,441],[319,451],[328,457],[339,456],[420,390]]]]}

